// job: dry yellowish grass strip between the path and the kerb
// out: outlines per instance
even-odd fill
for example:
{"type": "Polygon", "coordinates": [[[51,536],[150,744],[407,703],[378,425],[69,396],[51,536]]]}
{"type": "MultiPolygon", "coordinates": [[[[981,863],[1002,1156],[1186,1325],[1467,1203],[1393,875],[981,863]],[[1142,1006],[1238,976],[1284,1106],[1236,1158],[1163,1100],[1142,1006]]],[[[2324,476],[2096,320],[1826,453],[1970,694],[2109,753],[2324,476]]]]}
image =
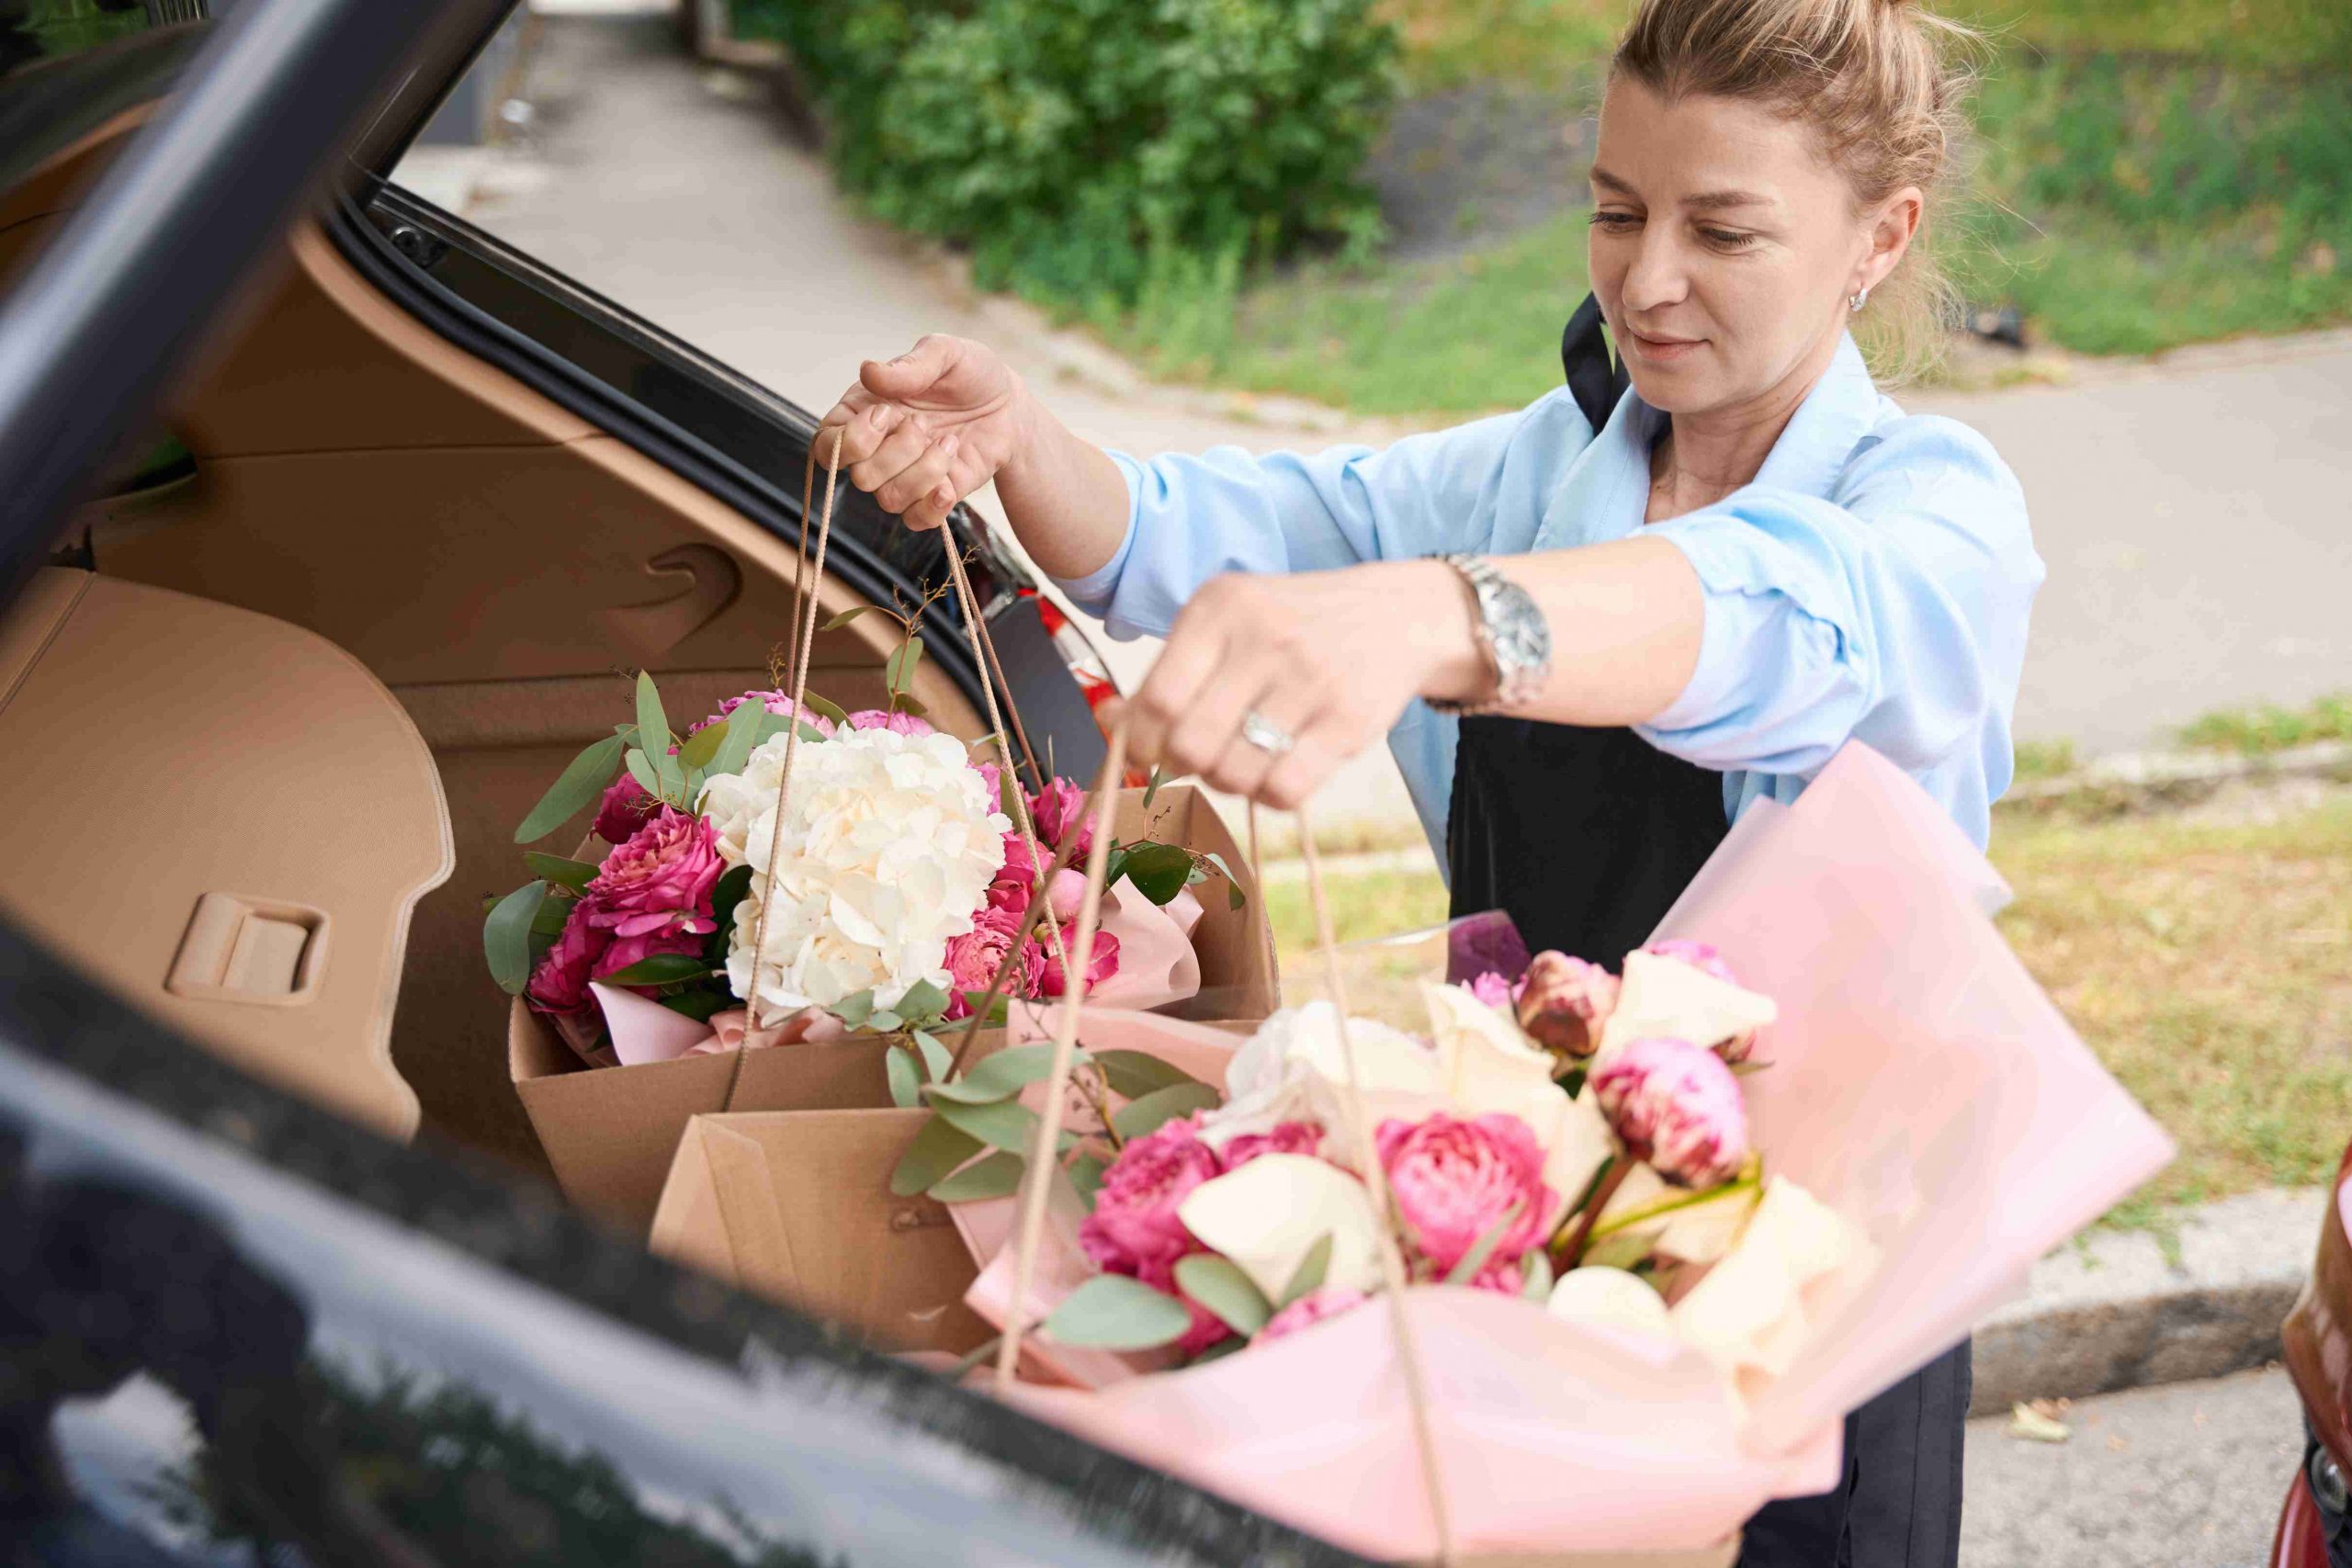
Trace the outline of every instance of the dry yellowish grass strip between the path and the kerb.
{"type": "MultiPolygon", "coordinates": [[[[2352,797],[2263,825],[2004,818],[2002,931],[2180,1159],[2110,1225],[2321,1182],[2352,1138],[2352,797]]],[[[1341,940],[1444,919],[1435,872],[1331,882],[1341,940]]],[[[1268,889],[1291,997],[1319,994],[1305,889],[1268,889]]]]}

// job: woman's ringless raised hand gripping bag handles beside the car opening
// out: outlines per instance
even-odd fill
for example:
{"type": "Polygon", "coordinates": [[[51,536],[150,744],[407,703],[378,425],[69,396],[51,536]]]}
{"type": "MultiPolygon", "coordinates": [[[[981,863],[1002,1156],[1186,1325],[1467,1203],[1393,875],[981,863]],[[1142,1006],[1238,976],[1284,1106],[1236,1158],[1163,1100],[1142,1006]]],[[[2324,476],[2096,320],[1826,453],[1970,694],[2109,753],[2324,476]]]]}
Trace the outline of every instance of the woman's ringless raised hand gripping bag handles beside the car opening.
{"type": "Polygon", "coordinates": [[[1028,442],[1028,390],[985,343],[929,334],[896,360],[868,360],[816,428],[816,461],[840,465],[884,512],[936,529],[1028,442]]]}

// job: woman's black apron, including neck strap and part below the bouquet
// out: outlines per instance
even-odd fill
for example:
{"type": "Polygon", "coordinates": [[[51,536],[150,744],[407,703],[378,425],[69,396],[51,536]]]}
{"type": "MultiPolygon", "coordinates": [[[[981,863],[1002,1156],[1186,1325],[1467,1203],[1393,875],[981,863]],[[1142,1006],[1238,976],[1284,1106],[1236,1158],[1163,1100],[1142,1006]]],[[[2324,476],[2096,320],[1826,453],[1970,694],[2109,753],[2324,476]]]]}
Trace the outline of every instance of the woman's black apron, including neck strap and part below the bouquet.
{"type": "MultiPolygon", "coordinates": [[[[1625,393],[1592,299],[1562,339],[1569,390],[1599,430],[1625,393]]],[[[1724,776],[1630,729],[1461,722],[1446,860],[1454,914],[1505,910],[1531,952],[1616,969],[1722,844],[1724,776]]],[[[1740,1568],[1955,1568],[1969,1347],[1959,1345],[1846,1418],[1846,1476],[1766,1505],[1740,1568]]]]}

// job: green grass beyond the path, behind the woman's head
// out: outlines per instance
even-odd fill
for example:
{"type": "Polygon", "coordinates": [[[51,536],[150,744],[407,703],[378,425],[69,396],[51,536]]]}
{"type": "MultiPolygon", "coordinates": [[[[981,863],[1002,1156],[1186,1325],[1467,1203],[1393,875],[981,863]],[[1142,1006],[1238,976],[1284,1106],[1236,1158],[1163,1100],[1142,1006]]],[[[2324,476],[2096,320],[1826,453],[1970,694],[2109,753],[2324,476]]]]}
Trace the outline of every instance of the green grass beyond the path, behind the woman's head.
{"type": "MultiPolygon", "coordinates": [[[[1952,7],[1971,14],[1969,7],[1952,7]]],[[[1597,78],[1611,0],[1397,0],[1409,92],[1597,78]]],[[[2352,5],[2016,0],[1994,38],[1976,179],[1947,259],[2042,343],[2159,353],[2352,320],[2352,5]]],[[[1581,212],[1449,261],[1242,280],[1202,268],[1101,322],[1160,376],[1362,414],[1468,414],[1557,381],[1585,289],[1581,212]],[[1174,301],[1183,303],[1176,306],[1174,301]]]]}

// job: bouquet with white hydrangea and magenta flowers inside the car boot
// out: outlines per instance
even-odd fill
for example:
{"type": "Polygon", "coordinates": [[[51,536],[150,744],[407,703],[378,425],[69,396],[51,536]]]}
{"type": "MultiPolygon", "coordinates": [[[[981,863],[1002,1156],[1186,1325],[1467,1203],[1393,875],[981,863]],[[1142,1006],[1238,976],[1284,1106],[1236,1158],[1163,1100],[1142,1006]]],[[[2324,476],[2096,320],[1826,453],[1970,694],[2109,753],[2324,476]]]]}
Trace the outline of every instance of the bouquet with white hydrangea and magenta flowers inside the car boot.
{"type": "MultiPolygon", "coordinates": [[[[901,684],[903,670],[894,705],[866,712],[809,693],[795,715],[783,691],[746,691],[673,733],[640,672],[635,722],[583,750],[515,832],[541,839],[595,804],[576,856],[527,851],[534,879],[492,903],[492,976],[593,1065],[856,1030],[920,1048],[908,1086],[917,1065],[946,1070],[943,1023],[990,997],[1061,997],[1082,877],[1033,863],[1014,813],[1063,863],[1096,813],[1068,778],[1016,802],[1021,783],[913,712],[901,684]]],[[[1192,889],[1221,875],[1240,900],[1230,867],[1148,839],[1112,863],[1089,987],[1145,1009],[1188,997],[1192,889]]]]}

